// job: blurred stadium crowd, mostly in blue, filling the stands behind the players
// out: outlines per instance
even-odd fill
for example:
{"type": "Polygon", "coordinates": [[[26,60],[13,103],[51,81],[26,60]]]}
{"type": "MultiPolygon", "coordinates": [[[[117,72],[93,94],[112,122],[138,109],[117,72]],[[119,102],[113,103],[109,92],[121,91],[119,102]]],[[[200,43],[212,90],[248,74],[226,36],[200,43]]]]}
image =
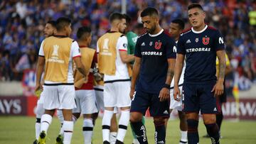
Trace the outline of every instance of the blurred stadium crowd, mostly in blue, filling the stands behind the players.
{"type": "MultiPolygon", "coordinates": [[[[208,14],[206,23],[224,35],[231,65],[240,76],[240,89],[250,89],[256,79],[256,3],[249,0],[206,0],[200,4],[208,14]]],[[[162,28],[169,29],[169,23],[175,18],[188,22],[184,12],[188,1],[127,0],[127,14],[132,17],[134,28],[141,23],[138,18],[140,11],[147,6],[159,10],[162,28]]],[[[36,68],[36,55],[47,21],[60,16],[72,19],[72,38],[80,26],[90,26],[91,46],[95,48],[97,39],[110,28],[108,16],[114,11],[120,12],[121,8],[121,0],[1,1],[0,81],[20,81],[23,70],[36,68]]]]}

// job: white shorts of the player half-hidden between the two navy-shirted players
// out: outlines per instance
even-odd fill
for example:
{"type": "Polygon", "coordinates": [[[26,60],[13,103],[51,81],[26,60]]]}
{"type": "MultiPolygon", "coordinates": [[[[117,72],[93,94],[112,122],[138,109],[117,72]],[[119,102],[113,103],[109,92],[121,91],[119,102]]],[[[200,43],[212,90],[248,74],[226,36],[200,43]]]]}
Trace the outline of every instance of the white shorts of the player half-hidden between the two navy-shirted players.
{"type": "MultiPolygon", "coordinates": [[[[183,96],[183,94],[182,94],[182,85],[178,88],[180,89],[181,96],[183,96]]],[[[181,97],[180,101],[176,101],[174,99],[174,88],[171,88],[171,90],[170,90],[170,98],[171,98],[170,109],[176,109],[178,111],[182,111],[182,97],[181,97]]]]}

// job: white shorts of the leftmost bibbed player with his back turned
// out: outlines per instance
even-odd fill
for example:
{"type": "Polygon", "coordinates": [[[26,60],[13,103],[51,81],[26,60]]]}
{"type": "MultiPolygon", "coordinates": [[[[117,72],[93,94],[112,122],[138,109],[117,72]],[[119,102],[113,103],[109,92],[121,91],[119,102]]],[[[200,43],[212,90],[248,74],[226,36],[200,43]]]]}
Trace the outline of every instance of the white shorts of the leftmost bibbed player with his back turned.
{"type": "Polygon", "coordinates": [[[44,85],[41,95],[44,98],[44,109],[74,109],[76,107],[74,85],[44,85]]]}

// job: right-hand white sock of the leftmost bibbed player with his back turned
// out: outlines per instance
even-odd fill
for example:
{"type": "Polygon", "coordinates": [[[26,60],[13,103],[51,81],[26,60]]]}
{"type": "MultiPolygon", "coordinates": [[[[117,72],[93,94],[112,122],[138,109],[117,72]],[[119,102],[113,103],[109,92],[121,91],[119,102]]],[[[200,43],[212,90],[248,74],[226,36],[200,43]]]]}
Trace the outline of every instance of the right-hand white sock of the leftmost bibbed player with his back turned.
{"type": "Polygon", "coordinates": [[[63,144],[70,144],[73,135],[73,121],[63,121],[64,140],[63,144]]]}

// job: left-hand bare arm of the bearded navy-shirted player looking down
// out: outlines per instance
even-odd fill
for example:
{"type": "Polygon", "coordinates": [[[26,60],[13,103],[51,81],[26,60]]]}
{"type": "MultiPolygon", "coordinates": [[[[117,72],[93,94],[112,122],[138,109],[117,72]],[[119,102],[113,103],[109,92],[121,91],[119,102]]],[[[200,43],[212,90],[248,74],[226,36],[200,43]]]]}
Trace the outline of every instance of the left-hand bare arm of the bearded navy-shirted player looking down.
{"type": "Polygon", "coordinates": [[[140,65],[141,65],[141,58],[135,57],[134,65],[132,68],[132,82],[131,82],[132,84],[131,84],[131,92],[130,92],[131,99],[133,98],[133,95],[134,95],[135,85],[138,79],[140,65]]]}

